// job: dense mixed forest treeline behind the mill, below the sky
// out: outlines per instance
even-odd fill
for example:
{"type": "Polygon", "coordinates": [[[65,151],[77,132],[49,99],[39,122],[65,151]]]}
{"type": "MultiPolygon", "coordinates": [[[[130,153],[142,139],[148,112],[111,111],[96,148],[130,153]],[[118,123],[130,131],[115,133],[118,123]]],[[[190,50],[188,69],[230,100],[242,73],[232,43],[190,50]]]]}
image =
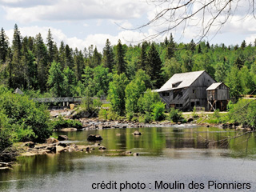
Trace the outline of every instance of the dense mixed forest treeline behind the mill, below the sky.
{"type": "MultiPolygon", "coordinates": [[[[5,86],[52,96],[107,95],[114,74],[132,81],[138,70],[150,77],[148,88],[158,89],[173,74],[206,70],[217,82],[230,87],[230,95],[253,94],[256,89],[256,42],[240,46],[177,43],[170,35],[164,42],[142,42],[126,46],[119,40],[112,46],[106,40],[102,53],[96,46],[72,49],[61,42],[58,47],[50,30],[43,41],[22,37],[14,26],[10,42],[5,30],[0,34],[0,80],[5,86]]],[[[34,95],[37,96],[37,95],[34,95]]]]}

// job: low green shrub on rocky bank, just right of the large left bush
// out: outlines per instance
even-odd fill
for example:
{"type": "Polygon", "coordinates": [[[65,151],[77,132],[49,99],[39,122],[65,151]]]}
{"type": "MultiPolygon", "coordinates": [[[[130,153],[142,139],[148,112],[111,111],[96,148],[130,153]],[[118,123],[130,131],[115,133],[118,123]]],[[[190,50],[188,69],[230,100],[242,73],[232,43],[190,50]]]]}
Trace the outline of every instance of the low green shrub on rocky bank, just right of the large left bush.
{"type": "Polygon", "coordinates": [[[74,127],[77,129],[82,129],[82,122],[79,122],[77,119],[65,119],[62,116],[58,116],[52,121],[54,130],[61,130],[66,127],[74,127]]]}

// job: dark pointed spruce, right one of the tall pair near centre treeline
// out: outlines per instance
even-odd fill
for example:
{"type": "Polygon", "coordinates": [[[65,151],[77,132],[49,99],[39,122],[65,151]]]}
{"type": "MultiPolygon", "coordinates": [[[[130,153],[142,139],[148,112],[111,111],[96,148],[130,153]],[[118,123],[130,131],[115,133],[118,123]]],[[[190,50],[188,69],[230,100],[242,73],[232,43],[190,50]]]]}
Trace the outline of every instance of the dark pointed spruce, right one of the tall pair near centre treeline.
{"type": "Polygon", "coordinates": [[[116,52],[116,70],[118,74],[126,73],[126,61],[125,61],[125,50],[122,47],[121,40],[118,40],[117,45],[117,52],[116,52]]]}

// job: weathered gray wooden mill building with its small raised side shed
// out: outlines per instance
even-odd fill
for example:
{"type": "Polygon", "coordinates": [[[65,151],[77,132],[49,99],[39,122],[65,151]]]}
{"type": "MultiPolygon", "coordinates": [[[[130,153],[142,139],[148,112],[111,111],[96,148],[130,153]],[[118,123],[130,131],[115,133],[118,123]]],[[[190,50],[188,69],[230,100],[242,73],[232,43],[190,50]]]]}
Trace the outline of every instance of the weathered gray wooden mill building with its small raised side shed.
{"type": "MultiPolygon", "coordinates": [[[[183,111],[191,111],[196,106],[198,109],[201,108],[201,110],[202,107],[205,110],[211,110],[213,108],[210,104],[214,104],[216,108],[219,107],[220,110],[225,110],[226,107],[224,105],[229,100],[229,89],[226,86],[226,93],[222,89],[224,86],[223,83],[216,83],[214,78],[205,70],[201,70],[174,74],[159,90],[154,91],[158,92],[162,102],[166,103],[166,109],[174,107],[183,111]],[[210,90],[207,92],[207,89],[210,90]],[[208,93],[214,94],[214,97],[210,97],[210,95],[208,97],[208,93]]],[[[214,110],[216,109],[215,107],[214,110]]]]}

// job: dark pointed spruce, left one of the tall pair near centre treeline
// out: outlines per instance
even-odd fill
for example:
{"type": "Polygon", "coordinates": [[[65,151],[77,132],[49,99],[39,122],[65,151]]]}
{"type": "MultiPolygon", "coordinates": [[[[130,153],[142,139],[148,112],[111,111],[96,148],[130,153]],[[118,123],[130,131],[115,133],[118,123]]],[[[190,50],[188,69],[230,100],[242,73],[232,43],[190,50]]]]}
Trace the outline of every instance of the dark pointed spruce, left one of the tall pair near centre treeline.
{"type": "Polygon", "coordinates": [[[114,51],[109,39],[106,39],[106,46],[103,48],[103,66],[109,68],[109,71],[112,72],[114,66],[114,51]]]}

